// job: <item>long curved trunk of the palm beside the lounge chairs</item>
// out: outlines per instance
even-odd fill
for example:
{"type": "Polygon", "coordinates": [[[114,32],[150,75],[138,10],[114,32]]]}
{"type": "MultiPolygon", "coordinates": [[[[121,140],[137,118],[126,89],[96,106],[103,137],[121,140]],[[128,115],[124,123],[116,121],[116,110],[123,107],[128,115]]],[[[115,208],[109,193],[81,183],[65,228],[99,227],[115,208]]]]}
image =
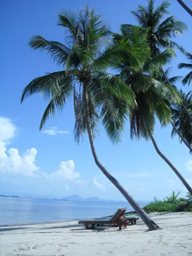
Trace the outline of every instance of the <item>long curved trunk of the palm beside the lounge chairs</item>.
{"type": "Polygon", "coordinates": [[[97,157],[97,153],[95,151],[95,145],[93,142],[93,136],[92,136],[92,129],[91,129],[91,125],[90,125],[90,115],[89,115],[89,106],[88,106],[88,92],[87,92],[87,84],[84,83],[83,84],[83,97],[84,97],[84,108],[85,108],[85,121],[86,121],[86,128],[88,131],[88,138],[90,140],[90,146],[92,148],[92,154],[93,154],[93,158],[95,160],[95,163],[97,164],[97,166],[99,167],[99,169],[101,170],[102,173],[104,173],[104,175],[113,183],[113,185],[118,189],[118,191],[120,191],[120,193],[122,193],[122,195],[124,195],[124,197],[127,199],[127,201],[129,202],[129,204],[131,204],[132,208],[138,213],[138,215],[141,217],[141,219],[143,220],[143,222],[147,225],[147,227],[149,228],[149,230],[156,230],[158,229],[158,225],[156,225],[156,223],[154,223],[154,221],[152,221],[146,214],[146,212],[143,210],[142,207],[140,207],[140,205],[132,198],[131,195],[129,195],[129,193],[127,193],[127,191],[122,187],[122,185],[115,179],[115,177],[113,177],[108,170],[106,170],[106,168],[100,163],[98,157],[97,157]]]}

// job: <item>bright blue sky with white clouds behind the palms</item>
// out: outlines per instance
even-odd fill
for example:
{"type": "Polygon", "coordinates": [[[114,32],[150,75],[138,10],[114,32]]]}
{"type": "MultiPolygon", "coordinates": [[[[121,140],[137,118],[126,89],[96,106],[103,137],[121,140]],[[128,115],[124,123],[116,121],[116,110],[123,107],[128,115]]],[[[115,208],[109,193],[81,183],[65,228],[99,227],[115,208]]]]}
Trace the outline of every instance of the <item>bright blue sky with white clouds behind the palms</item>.
{"type": "MultiPolygon", "coordinates": [[[[170,1],[170,15],[191,24],[191,17],[177,1],[170,1]]],[[[60,70],[45,52],[32,51],[28,46],[33,35],[47,40],[64,42],[65,33],[58,22],[58,13],[72,10],[77,13],[86,0],[2,0],[0,1],[1,29],[1,93],[0,93],[0,194],[61,198],[78,194],[84,198],[122,200],[120,192],[104,177],[93,161],[87,136],[77,145],[74,142],[74,111],[72,99],[67,100],[63,113],[49,119],[42,132],[40,120],[47,102],[34,95],[20,105],[23,88],[45,72],[60,70]]],[[[192,8],[190,0],[185,3],[192,8]]],[[[90,8],[102,14],[109,28],[118,32],[120,24],[137,24],[130,10],[136,10],[145,0],[90,0],[90,8]]],[[[160,0],[156,4],[161,4],[160,0]]],[[[191,26],[175,41],[191,52],[191,26]]],[[[170,67],[172,76],[185,76],[188,70],[178,70],[186,58],[177,52],[170,67]]],[[[184,92],[188,86],[177,84],[184,92]]],[[[154,138],[172,164],[192,186],[192,159],[188,148],[171,138],[172,127],[163,129],[156,124],[154,138]]],[[[100,127],[95,139],[99,159],[136,200],[161,199],[174,190],[186,195],[186,188],[175,173],[154,150],[151,141],[131,140],[129,124],[122,143],[112,145],[100,127]]]]}

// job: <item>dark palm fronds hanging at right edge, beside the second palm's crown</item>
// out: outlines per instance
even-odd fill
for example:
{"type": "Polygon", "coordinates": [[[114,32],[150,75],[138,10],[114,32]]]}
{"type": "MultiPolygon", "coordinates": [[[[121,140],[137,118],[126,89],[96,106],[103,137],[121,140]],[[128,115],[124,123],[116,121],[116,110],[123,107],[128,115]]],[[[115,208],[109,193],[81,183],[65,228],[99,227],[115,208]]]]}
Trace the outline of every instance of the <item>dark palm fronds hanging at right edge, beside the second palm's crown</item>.
{"type": "MultiPolygon", "coordinates": [[[[192,92],[182,93],[182,99],[183,102],[188,109],[189,113],[192,114],[192,92]]],[[[173,106],[172,108],[172,120],[173,120],[173,130],[172,130],[172,137],[177,134],[177,131],[180,132],[180,134],[183,136],[184,140],[188,145],[190,146],[191,151],[191,145],[192,145],[192,125],[191,122],[188,120],[188,116],[186,115],[184,109],[181,105],[173,106]],[[177,131],[175,130],[177,129],[177,131]]],[[[179,137],[180,143],[182,143],[182,140],[179,137]]]]}

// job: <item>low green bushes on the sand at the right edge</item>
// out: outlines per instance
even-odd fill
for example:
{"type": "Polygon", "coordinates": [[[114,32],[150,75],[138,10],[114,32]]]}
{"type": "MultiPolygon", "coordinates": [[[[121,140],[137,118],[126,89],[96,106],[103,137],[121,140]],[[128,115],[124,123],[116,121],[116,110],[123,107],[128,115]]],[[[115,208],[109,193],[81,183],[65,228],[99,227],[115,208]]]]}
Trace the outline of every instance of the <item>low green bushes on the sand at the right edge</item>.
{"type": "Polygon", "coordinates": [[[166,196],[164,200],[157,200],[154,197],[154,202],[145,205],[143,209],[145,212],[177,212],[177,211],[192,211],[191,204],[191,195],[189,193],[186,195],[186,198],[178,198],[180,192],[175,194],[175,191],[172,192],[172,195],[166,196]]]}

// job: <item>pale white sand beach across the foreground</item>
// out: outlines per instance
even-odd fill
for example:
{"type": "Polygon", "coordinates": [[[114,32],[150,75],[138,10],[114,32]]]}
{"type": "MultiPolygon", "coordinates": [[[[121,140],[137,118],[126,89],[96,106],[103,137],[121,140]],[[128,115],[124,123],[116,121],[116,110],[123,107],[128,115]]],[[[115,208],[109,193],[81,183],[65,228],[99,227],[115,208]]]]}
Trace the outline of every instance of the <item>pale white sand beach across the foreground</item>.
{"type": "Polygon", "coordinates": [[[121,231],[85,230],[77,221],[0,227],[0,255],[192,255],[192,213],[156,214],[152,220],[163,229],[148,232],[141,220],[121,231]]]}

